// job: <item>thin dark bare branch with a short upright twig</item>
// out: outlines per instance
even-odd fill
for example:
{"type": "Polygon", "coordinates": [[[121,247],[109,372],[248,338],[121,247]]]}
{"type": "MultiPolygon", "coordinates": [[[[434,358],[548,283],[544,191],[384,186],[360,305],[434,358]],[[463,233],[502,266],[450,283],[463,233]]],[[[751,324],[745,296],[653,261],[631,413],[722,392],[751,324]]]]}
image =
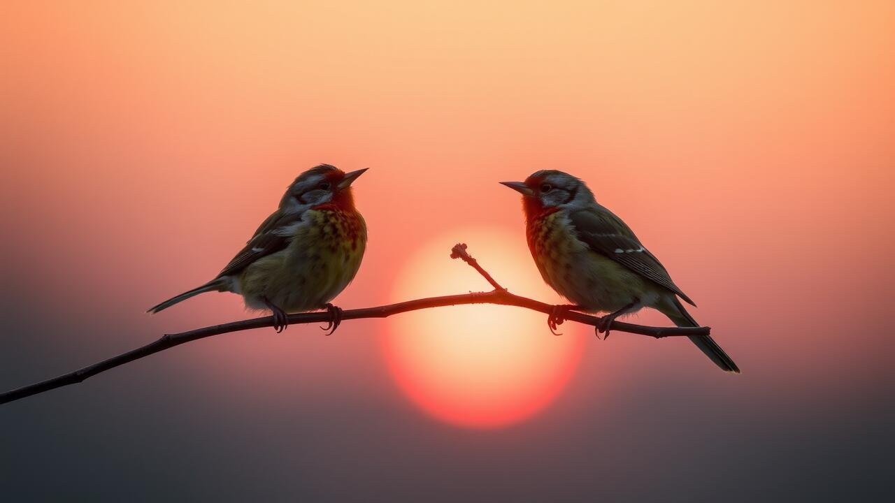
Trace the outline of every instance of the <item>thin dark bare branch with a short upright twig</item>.
{"type": "MultiPolygon", "coordinates": [[[[533,299],[521,297],[519,295],[510,294],[509,292],[507,292],[506,288],[500,286],[499,283],[495,281],[494,278],[490,276],[490,274],[488,274],[488,271],[482,269],[482,266],[479,265],[478,261],[473,259],[473,257],[470,256],[468,252],[466,252],[465,244],[456,244],[456,246],[454,246],[452,250],[451,258],[459,258],[464,260],[467,264],[473,267],[473,269],[478,271],[479,274],[481,274],[482,277],[484,277],[491,286],[494,286],[495,289],[490,292],[444,295],[441,297],[416,299],[404,303],[394,303],[362,309],[350,309],[342,312],[342,320],[387,318],[388,316],[391,316],[393,314],[399,314],[407,311],[419,311],[422,309],[451,305],[483,303],[516,306],[532,311],[540,311],[545,314],[550,314],[553,311],[553,304],[541,303],[533,299]]],[[[599,316],[592,316],[590,314],[584,314],[583,312],[577,311],[568,311],[567,313],[564,313],[564,318],[566,320],[573,320],[577,321],[578,323],[583,323],[584,325],[591,325],[594,327],[597,326],[597,324],[600,323],[601,320],[601,317],[599,316]]],[[[330,314],[327,311],[303,312],[299,314],[290,314],[288,320],[290,325],[320,323],[329,321],[330,314]]],[[[175,347],[176,345],[182,345],[184,343],[192,342],[194,340],[205,337],[217,336],[230,332],[238,332],[241,330],[249,330],[251,328],[272,327],[273,324],[273,317],[265,316],[262,318],[254,318],[251,320],[233,321],[230,323],[224,323],[222,325],[214,325],[212,327],[196,328],[194,330],[181,332],[179,334],[166,334],[148,345],[143,345],[141,347],[138,347],[137,349],[128,351],[127,353],[118,354],[117,356],[113,356],[112,358],[103,360],[102,362],[94,363],[88,367],[84,367],[81,370],[69,372],[53,379],[43,380],[34,384],[30,384],[28,386],[23,386],[21,388],[7,391],[3,394],[0,394],[0,404],[12,402],[13,400],[18,400],[26,396],[37,395],[38,393],[43,393],[44,391],[49,391],[50,389],[79,383],[84,379],[88,379],[97,375],[100,372],[114,369],[115,367],[124,365],[124,363],[139,360],[143,357],[149,356],[150,354],[156,354],[160,351],[165,351],[166,349],[175,347]]],[[[623,321],[616,320],[612,321],[609,328],[618,332],[628,332],[631,334],[639,334],[655,338],[708,336],[711,331],[711,328],[708,327],[646,327],[644,325],[635,325],[633,323],[625,323],[623,321]]]]}

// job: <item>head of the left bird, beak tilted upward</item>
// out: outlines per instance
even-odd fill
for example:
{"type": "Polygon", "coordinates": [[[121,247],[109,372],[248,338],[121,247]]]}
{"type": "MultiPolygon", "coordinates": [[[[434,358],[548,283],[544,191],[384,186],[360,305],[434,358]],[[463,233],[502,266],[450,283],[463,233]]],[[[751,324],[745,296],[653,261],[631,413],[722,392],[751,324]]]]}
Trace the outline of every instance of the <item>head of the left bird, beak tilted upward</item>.
{"type": "Polygon", "coordinates": [[[345,173],[336,166],[321,164],[298,175],[280,200],[280,209],[299,212],[331,204],[341,209],[354,209],[351,183],[368,168],[345,173]]]}

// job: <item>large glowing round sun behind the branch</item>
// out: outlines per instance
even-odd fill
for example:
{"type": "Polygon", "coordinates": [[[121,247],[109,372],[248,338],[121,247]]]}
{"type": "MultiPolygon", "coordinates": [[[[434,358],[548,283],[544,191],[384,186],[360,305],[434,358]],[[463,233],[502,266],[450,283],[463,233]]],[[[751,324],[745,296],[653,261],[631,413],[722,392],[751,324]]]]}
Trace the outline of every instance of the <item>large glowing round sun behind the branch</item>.
{"type": "MultiPolygon", "coordinates": [[[[396,300],[487,290],[462,262],[464,239],[482,266],[516,294],[556,297],[540,277],[520,234],[500,228],[440,234],[413,253],[396,281],[396,300]]],[[[390,321],[389,368],[415,405],[442,421],[473,428],[519,422],[550,404],[582,353],[582,338],[553,337],[542,314],[514,307],[466,305],[415,311],[390,321]]]]}

